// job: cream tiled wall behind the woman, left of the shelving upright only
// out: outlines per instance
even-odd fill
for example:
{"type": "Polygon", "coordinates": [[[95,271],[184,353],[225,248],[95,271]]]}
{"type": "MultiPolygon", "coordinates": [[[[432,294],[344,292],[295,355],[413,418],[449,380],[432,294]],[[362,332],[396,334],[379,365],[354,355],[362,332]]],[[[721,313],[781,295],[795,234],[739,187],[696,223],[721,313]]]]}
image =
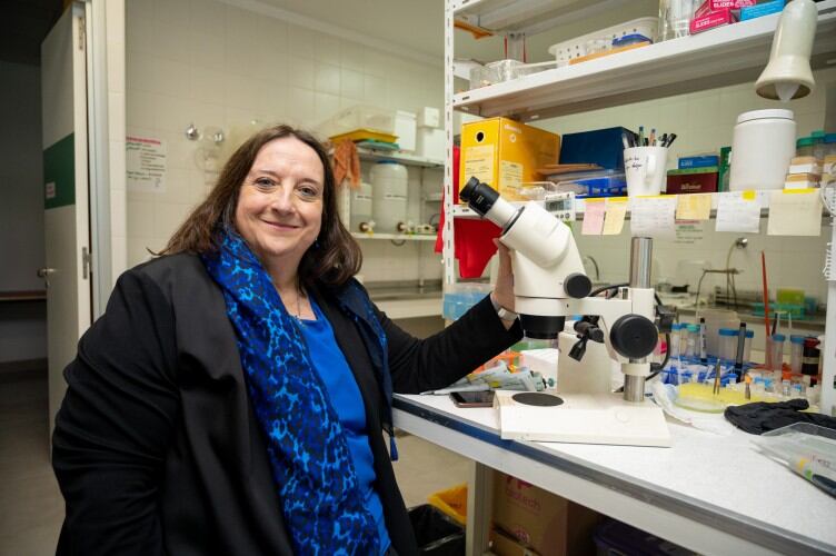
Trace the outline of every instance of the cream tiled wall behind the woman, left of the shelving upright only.
{"type": "MultiPolygon", "coordinates": [[[[440,60],[428,66],[215,0],[130,0],[126,9],[128,135],[163,139],[168,150],[166,191],[128,191],[131,266],[148,257],[146,248],[160,249],[206,195],[198,146],[183,136],[190,122],[227,131],[252,119],[311,128],[357,103],[444,105],[440,60]]],[[[410,170],[412,183],[418,172],[410,170]]],[[[440,189],[440,172],[436,179],[440,189]]],[[[426,246],[362,246],[367,280],[417,278],[419,269],[441,276],[440,257],[426,246]]]]}

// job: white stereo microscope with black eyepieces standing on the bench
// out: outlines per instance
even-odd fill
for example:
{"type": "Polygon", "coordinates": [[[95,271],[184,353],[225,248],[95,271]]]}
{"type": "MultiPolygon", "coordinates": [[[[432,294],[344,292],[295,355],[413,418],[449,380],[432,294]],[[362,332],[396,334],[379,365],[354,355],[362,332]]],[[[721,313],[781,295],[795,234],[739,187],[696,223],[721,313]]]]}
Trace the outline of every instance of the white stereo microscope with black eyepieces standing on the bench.
{"type": "Polygon", "coordinates": [[[525,335],[571,342],[560,354],[557,396],[497,393],[502,438],[669,446],[661,409],[645,399],[659,337],[651,240],[633,239],[628,287],[618,288],[614,298],[589,297],[591,281],[566,224],[534,201],[514,207],[476,178],[459,196],[502,229],[499,240],[511,250],[515,311],[525,335]],[[574,315],[583,317],[567,331],[574,315]],[[587,347],[595,361],[579,365],[587,347]],[[611,361],[624,375],[623,396],[609,388],[611,361]]]}

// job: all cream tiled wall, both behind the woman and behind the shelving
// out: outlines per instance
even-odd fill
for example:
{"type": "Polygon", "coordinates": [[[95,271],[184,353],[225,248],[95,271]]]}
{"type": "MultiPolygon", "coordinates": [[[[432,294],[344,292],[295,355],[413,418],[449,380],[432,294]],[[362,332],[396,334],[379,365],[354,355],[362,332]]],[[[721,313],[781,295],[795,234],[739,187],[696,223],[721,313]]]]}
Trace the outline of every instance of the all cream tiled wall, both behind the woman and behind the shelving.
{"type": "MultiPolygon", "coordinates": [[[[129,265],[147,258],[146,248],[161,248],[206,195],[206,177],[196,163],[198,148],[183,137],[188,123],[229,130],[255,118],[314,127],[338,109],[360,102],[404,109],[444,103],[440,60],[436,66],[419,63],[216,0],[130,0],[127,10],[128,133],[165,139],[169,158],[165,192],[128,191],[129,265]]],[[[823,127],[824,83],[836,81],[836,70],[818,72],[816,78],[817,91],[789,106],[799,135],[823,127]]],[[[673,166],[676,156],[730,145],[739,112],[773,106],[747,83],[563,117],[539,126],[560,133],[639,125],[673,131],[678,135],[669,160],[673,166]]],[[[421,210],[419,172],[410,169],[414,218],[421,210]]],[[[440,187],[441,172],[425,170],[425,179],[440,187]]],[[[709,259],[715,268],[724,266],[727,247],[737,235],[715,234],[711,225],[705,239],[694,246],[657,242],[660,275],[675,278],[684,259],[709,259]]],[[[585,254],[597,258],[604,278],[626,277],[627,231],[616,238],[579,237],[578,241],[585,254]]],[[[735,266],[746,264],[738,285],[759,284],[759,250],[765,248],[773,284],[822,295],[825,282],[819,269],[825,244],[824,237],[754,236],[749,248],[737,251],[733,259],[735,266]]],[[[367,281],[441,276],[440,258],[429,242],[396,247],[365,240],[362,248],[367,281]]]]}

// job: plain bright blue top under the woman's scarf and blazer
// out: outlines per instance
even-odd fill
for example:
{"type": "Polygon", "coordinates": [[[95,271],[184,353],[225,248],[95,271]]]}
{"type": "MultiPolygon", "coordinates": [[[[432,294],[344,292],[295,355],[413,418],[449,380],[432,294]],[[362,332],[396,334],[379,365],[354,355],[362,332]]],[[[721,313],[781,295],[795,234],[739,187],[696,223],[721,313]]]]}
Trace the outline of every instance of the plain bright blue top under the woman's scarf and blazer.
{"type": "Polygon", "coordinates": [[[342,425],[342,430],[346,434],[366,509],[377,523],[380,554],[382,555],[389,549],[391,540],[384,519],[384,505],[375,490],[375,458],[371,454],[369,435],[366,429],[366,406],[357,380],[355,380],[355,375],[334,337],[331,324],[328,322],[314,299],[309,299],[317,320],[300,319],[300,328],[308,344],[314,368],[317,369],[326,385],[328,396],[331,398],[334,409],[337,411],[340,425],[342,425]]]}

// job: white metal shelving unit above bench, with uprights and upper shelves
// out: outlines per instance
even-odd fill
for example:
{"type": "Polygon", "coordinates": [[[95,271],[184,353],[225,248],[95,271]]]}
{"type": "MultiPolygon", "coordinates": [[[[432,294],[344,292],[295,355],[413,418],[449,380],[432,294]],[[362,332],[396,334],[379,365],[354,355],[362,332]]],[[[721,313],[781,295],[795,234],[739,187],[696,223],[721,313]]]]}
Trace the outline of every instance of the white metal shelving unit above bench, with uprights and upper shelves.
{"type": "MultiPolygon", "coordinates": [[[[556,116],[621,106],[671,95],[694,92],[754,81],[768,60],[769,46],[778,14],[713,29],[657,44],[626,51],[584,63],[555,68],[512,81],[456,93],[454,90],[454,21],[507,34],[534,34],[557,24],[587,17],[585,10],[609,9],[617,0],[555,2],[551,0],[447,0],[445,9],[445,286],[456,284],[454,259],[454,219],[474,218],[466,207],[455,205],[452,191],[452,112],[466,111],[482,117],[507,116],[533,121],[556,116]],[[543,24],[541,24],[543,23],[543,24]]],[[[836,59],[836,0],[817,2],[819,12],[814,69],[836,59]]],[[[721,193],[719,193],[721,195],[721,193]]],[[[760,193],[762,216],[768,210],[768,196],[760,193]]],[[[716,208],[717,198],[713,200],[716,208]]],[[[576,203],[583,215],[583,202],[576,203]]],[[[836,260],[836,228],[828,254],[836,260]]],[[[836,280],[836,271],[833,272],[836,280]]],[[[836,345],[836,281],[828,276],[828,346],[836,345]]],[[[836,350],[824,356],[825,389],[822,407],[834,406],[833,389],[836,350]]]]}

